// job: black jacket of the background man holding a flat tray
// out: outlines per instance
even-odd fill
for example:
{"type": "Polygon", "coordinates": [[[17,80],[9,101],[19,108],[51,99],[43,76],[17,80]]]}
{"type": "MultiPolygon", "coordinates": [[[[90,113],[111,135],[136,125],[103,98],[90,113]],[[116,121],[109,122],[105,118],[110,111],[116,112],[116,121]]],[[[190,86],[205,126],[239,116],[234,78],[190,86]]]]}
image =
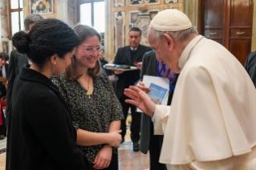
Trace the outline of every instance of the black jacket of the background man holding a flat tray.
{"type": "MultiPolygon", "coordinates": [[[[144,53],[151,50],[152,49],[150,47],[140,45],[136,51],[134,61],[142,62],[142,57],[144,53]]],[[[116,53],[114,63],[134,66],[131,59],[131,47],[130,46],[120,47],[116,53]]],[[[120,74],[117,76],[118,76],[118,79],[116,79],[115,91],[116,91],[116,97],[120,99],[120,97],[124,93],[124,88],[128,87],[128,85],[134,85],[134,83],[136,83],[136,81],[140,79],[140,70],[124,71],[123,74],[120,74]]]]}

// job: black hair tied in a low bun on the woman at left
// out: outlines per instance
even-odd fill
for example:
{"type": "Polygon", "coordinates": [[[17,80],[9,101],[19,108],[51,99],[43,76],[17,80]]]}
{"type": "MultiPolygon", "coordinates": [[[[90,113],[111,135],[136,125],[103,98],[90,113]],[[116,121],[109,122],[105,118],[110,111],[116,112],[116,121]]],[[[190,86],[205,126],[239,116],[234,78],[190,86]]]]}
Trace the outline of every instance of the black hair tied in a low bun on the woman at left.
{"type": "Polygon", "coordinates": [[[19,31],[12,38],[14,47],[26,54],[33,63],[43,67],[47,59],[57,54],[59,58],[79,46],[79,38],[70,26],[55,18],[35,23],[30,32],[19,31]]]}

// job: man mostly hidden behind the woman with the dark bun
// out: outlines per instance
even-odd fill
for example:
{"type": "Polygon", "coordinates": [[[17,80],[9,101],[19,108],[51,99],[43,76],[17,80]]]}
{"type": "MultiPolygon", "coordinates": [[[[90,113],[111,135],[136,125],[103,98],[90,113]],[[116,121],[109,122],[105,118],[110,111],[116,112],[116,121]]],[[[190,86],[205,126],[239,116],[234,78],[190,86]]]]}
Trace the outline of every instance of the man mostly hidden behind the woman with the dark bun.
{"type": "MultiPolygon", "coordinates": [[[[34,26],[36,22],[45,19],[41,14],[29,14],[24,20],[24,26],[26,32],[29,32],[31,27],[34,26]]],[[[6,94],[6,126],[8,126],[8,119],[10,114],[10,99],[12,94],[12,88],[14,86],[14,79],[22,71],[22,67],[29,63],[26,55],[19,54],[18,51],[14,50],[10,53],[10,67],[8,71],[8,87],[6,94]]]]}

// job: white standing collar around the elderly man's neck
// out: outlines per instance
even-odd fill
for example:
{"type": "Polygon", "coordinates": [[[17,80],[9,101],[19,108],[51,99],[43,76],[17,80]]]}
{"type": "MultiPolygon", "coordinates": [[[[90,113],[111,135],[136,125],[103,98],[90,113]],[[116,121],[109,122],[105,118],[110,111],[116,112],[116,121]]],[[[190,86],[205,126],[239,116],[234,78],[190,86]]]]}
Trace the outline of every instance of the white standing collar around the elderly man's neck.
{"type": "Polygon", "coordinates": [[[192,41],[189,42],[189,44],[185,47],[184,51],[182,51],[181,57],[178,62],[178,67],[180,67],[181,70],[185,66],[187,60],[189,59],[189,54],[191,50],[193,50],[193,47],[195,47],[197,45],[197,42],[199,42],[202,38],[203,36],[201,35],[198,35],[196,38],[193,38],[192,41]]]}

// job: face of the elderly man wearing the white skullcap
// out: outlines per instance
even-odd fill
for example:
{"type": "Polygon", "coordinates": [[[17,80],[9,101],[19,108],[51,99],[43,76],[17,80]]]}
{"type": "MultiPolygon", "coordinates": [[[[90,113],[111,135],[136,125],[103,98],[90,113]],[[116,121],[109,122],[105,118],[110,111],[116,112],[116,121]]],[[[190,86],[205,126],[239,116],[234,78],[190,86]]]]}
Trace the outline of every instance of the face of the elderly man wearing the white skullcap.
{"type": "Polygon", "coordinates": [[[174,49],[174,42],[163,36],[160,40],[152,35],[151,28],[148,29],[148,42],[150,47],[156,51],[156,59],[163,61],[171,69],[171,71],[179,73],[181,69],[178,67],[179,56],[174,49]]]}

